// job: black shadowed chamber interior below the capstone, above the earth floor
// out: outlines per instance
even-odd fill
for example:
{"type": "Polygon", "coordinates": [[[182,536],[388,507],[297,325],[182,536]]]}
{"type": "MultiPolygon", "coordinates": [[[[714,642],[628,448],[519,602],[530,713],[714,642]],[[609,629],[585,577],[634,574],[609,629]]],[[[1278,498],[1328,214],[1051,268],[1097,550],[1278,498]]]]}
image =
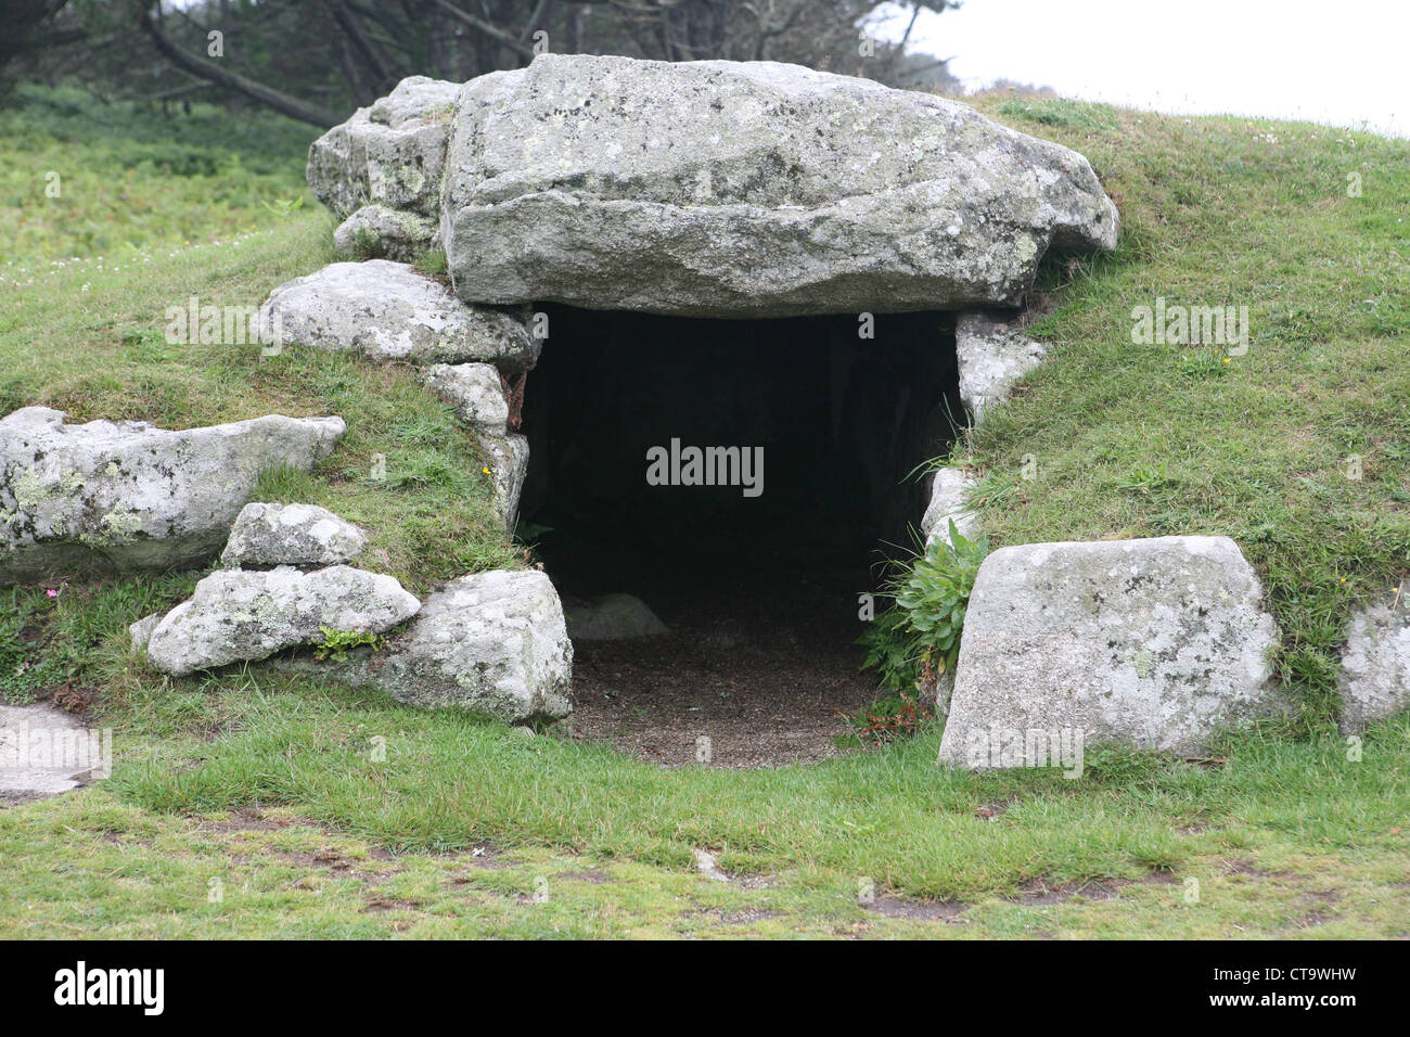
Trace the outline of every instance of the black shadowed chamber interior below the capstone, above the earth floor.
{"type": "Polygon", "coordinates": [[[540,309],[520,522],[570,593],[595,593],[596,570],[623,560],[657,581],[712,576],[702,564],[864,567],[880,545],[912,543],[928,490],[915,468],[960,413],[950,315],[877,315],[863,339],[853,315],[540,309]],[[726,484],[685,484],[711,474],[726,484]]]}

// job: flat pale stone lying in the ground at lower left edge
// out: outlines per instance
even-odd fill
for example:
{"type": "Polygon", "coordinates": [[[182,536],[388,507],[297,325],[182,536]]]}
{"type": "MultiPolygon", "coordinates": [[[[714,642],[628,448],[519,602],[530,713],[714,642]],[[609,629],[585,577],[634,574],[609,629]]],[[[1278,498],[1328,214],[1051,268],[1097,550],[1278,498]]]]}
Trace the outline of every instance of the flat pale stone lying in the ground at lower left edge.
{"type": "Polygon", "coordinates": [[[0,704],[0,803],[30,803],[109,776],[111,732],[48,704],[0,704]]]}

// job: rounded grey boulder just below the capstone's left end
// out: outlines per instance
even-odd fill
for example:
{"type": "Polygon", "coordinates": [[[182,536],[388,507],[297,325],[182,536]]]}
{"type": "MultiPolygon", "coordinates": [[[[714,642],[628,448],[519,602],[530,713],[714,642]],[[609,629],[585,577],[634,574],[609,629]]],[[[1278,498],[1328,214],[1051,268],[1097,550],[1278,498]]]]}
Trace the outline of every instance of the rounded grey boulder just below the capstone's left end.
{"type": "MultiPolygon", "coordinates": [[[[467,306],[409,264],[334,262],[275,288],[259,308],[266,339],[413,364],[533,367],[539,340],[510,313],[467,306]]],[[[265,339],[261,339],[265,340],[265,339]]]]}

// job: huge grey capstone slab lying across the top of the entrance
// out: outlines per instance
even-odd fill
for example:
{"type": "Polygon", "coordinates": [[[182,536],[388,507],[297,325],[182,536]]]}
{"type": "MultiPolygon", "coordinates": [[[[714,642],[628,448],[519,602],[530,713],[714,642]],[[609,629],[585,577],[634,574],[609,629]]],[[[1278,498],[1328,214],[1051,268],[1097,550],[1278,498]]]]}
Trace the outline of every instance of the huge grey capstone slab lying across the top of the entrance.
{"type": "Polygon", "coordinates": [[[441,240],[472,302],[774,317],[1017,305],[1117,219],[1086,158],[959,102],[546,54],[461,90],[441,240]]]}

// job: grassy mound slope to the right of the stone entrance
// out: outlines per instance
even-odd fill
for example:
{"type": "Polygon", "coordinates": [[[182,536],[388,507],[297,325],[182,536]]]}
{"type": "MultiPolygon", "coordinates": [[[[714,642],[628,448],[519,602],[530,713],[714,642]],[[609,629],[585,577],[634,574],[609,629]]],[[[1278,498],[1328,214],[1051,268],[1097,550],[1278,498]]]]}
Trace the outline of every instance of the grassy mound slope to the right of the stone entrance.
{"type": "Polygon", "coordinates": [[[995,546],[1232,536],[1282,629],[1294,731],[1325,728],[1349,614],[1410,571],[1410,142],[980,106],[1086,154],[1122,214],[1117,253],[1046,265],[1062,305],[1034,333],[1050,360],[957,450],[983,477],[983,528],[995,546]],[[1132,308],[1156,296],[1248,306],[1248,354],[1132,344],[1132,308]]]}

